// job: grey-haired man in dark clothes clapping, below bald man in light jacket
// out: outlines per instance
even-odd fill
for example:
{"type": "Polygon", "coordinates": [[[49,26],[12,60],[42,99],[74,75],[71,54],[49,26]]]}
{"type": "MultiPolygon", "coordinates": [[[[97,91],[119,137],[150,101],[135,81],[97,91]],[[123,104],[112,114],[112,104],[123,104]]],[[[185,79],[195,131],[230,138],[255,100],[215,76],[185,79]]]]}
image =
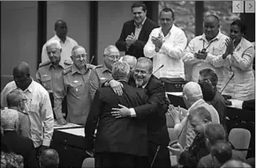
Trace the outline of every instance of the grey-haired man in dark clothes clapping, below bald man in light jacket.
{"type": "Polygon", "coordinates": [[[194,168],[197,166],[200,158],[209,153],[205,143],[204,130],[212,121],[211,113],[203,106],[198,106],[189,113],[188,121],[190,121],[192,129],[196,134],[192,145],[188,150],[184,150],[177,142],[172,146],[168,146],[168,148],[172,155],[176,155],[179,158],[179,164],[184,165],[184,167],[194,168]]]}

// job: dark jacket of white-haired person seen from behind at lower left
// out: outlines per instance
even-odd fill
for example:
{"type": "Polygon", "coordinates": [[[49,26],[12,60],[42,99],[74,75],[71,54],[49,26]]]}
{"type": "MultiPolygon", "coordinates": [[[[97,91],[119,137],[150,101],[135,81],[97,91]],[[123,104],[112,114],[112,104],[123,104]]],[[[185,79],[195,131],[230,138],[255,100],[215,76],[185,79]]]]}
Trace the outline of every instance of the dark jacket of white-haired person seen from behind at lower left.
{"type": "Polygon", "coordinates": [[[3,141],[11,148],[11,150],[24,158],[24,167],[39,167],[34,144],[31,139],[18,135],[15,130],[4,130],[3,141]]]}

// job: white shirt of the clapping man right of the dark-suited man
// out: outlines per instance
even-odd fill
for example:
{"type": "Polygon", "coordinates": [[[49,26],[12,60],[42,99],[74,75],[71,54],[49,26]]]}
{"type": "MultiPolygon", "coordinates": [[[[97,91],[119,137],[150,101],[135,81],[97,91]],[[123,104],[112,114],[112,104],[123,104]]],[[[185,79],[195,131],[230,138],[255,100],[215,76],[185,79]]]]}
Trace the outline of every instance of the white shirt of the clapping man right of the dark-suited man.
{"type": "Polygon", "coordinates": [[[173,25],[169,33],[164,36],[162,27],[154,28],[150,33],[147,44],[144,47],[144,55],[148,58],[153,58],[153,71],[161,67],[155,72],[155,77],[182,77],[184,78],[184,48],[187,44],[187,38],[184,31],[173,25]],[[152,36],[162,36],[163,43],[159,52],[155,52],[155,46],[152,42],[152,36]]]}

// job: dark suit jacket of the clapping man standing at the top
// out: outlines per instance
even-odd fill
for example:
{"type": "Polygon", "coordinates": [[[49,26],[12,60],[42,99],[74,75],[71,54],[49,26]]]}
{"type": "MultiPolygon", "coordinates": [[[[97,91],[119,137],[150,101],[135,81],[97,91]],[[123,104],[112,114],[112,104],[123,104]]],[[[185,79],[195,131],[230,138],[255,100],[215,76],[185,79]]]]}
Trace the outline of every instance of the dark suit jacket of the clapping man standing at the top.
{"type": "Polygon", "coordinates": [[[135,34],[135,25],[134,25],[134,20],[129,20],[125,22],[122,29],[122,33],[119,37],[119,40],[117,40],[116,42],[117,48],[120,51],[125,51],[125,55],[133,55],[136,58],[143,57],[144,56],[143,47],[147,43],[149,34],[156,27],[158,26],[154,23],[154,21],[147,18],[144,22],[144,25],[141,28],[138,40],[136,40],[136,42],[133,43],[127,50],[125,39],[128,35],[131,35],[131,33],[135,34]]]}

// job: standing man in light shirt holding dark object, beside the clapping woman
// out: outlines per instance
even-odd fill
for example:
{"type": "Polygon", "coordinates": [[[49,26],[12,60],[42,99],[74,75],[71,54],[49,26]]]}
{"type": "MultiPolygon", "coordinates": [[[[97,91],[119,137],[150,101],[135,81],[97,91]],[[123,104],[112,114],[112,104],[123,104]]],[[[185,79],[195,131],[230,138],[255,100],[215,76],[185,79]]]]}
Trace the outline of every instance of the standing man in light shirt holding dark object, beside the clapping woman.
{"type": "Polygon", "coordinates": [[[219,18],[213,14],[204,18],[204,33],[193,38],[184,51],[183,61],[192,65],[192,81],[198,82],[201,69],[215,69],[218,84],[217,89],[222,89],[223,69],[215,68],[213,60],[225,52],[225,40],[222,34],[219,18]]]}

